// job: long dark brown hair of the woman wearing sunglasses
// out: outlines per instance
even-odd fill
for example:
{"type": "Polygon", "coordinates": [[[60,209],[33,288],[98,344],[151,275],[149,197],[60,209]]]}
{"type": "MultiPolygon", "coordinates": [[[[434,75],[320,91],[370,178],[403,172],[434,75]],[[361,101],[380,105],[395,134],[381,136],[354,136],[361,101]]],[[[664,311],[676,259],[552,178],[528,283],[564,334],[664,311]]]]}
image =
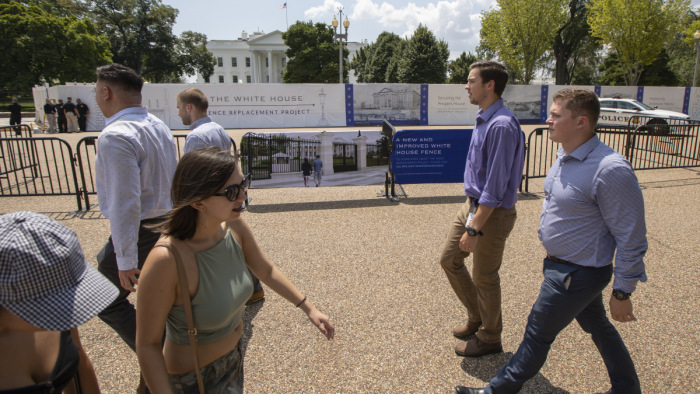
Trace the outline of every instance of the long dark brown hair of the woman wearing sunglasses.
{"type": "Polygon", "coordinates": [[[207,147],[182,156],[175,169],[170,198],[173,209],[155,228],[161,234],[189,239],[197,229],[199,211],[190,204],[219,192],[238,166],[238,158],[216,147],[207,147]]]}

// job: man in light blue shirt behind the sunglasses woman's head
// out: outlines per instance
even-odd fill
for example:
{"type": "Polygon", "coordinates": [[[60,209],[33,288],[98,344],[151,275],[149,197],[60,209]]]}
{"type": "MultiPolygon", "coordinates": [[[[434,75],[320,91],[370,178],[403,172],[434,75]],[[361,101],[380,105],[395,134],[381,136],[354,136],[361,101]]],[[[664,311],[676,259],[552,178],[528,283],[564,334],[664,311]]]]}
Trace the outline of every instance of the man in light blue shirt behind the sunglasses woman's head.
{"type": "MultiPolygon", "coordinates": [[[[185,154],[195,149],[214,146],[226,152],[231,152],[231,137],[218,123],[207,116],[209,100],[199,89],[190,88],[177,95],[177,114],[182,124],[190,126],[190,133],[185,138],[185,154]]],[[[248,303],[262,301],[265,290],[260,280],[253,275],[254,291],[248,303]]]]}

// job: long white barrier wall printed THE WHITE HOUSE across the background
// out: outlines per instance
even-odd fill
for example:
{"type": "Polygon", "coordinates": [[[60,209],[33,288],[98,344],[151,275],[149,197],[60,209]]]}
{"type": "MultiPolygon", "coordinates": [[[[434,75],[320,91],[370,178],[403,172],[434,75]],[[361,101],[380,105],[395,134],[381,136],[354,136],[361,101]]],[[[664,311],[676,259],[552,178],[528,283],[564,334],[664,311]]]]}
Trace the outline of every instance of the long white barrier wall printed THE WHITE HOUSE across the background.
{"type": "MultiPolygon", "coordinates": [[[[176,95],[198,88],[209,98],[209,116],[225,128],[473,125],[479,108],[469,102],[464,85],[455,84],[145,84],[143,105],[173,130],[186,130],[177,115],[176,95]]],[[[508,85],[503,101],[522,124],[543,124],[552,96],[564,85],[508,85]]],[[[600,97],[633,98],[659,109],[700,119],[700,88],[579,86],[600,97]]],[[[90,107],[88,131],[104,127],[94,84],[34,88],[37,120],[44,100],[80,98],[90,107]]]]}

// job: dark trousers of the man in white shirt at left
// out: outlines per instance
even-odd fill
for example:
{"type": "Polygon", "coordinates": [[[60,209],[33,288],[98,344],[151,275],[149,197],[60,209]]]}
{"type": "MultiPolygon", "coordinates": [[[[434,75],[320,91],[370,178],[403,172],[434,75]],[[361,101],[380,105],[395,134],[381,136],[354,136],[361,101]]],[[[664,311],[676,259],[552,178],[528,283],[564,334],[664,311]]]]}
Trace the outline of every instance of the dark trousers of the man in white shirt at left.
{"type": "MultiPolygon", "coordinates": [[[[146,224],[154,224],[162,221],[162,218],[145,219],[139,227],[138,240],[138,268],[143,268],[143,263],[148,257],[153,246],[158,242],[160,233],[144,228],[146,224]]],[[[117,267],[117,255],[114,253],[112,237],[97,253],[97,269],[119,289],[119,296],[97,316],[112,327],[114,331],[126,342],[131,350],[136,350],[136,309],[127,297],[130,291],[124,289],[119,282],[119,267],[117,267]]]]}

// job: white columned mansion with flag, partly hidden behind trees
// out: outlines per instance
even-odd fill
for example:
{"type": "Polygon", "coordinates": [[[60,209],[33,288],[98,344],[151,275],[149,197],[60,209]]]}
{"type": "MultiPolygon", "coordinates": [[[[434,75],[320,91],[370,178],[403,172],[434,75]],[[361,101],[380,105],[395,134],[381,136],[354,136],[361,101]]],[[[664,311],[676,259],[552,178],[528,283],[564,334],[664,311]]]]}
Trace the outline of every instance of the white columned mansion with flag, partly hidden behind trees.
{"type": "MultiPolygon", "coordinates": [[[[348,42],[351,60],[367,42],[348,42]]],[[[287,46],[282,40],[282,32],[245,31],[237,40],[211,40],[207,49],[217,60],[214,74],[209,81],[197,75],[196,83],[282,83],[284,68],[287,66],[287,46]]],[[[343,63],[347,67],[347,63],[343,63]]],[[[357,83],[353,71],[348,72],[349,82],[357,83]]]]}

